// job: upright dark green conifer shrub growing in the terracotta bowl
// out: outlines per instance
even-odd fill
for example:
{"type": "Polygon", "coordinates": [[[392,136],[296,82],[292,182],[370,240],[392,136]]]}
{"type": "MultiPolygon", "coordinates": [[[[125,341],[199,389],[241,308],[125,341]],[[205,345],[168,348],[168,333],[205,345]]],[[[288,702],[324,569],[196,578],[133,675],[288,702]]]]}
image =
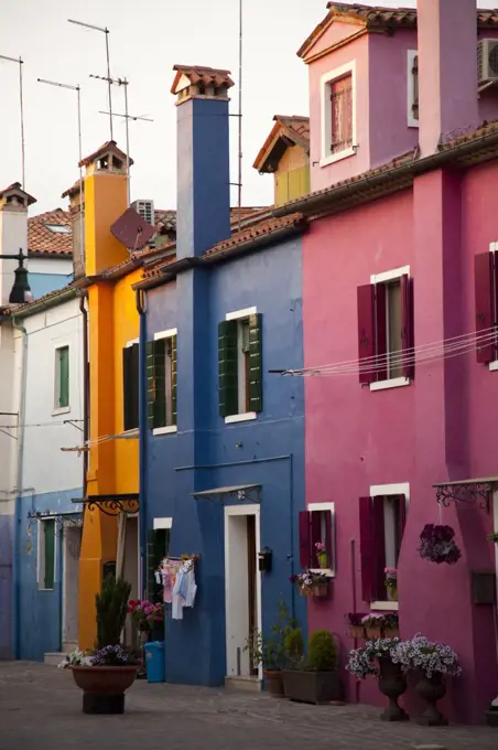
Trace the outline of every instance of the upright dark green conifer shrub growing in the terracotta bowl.
{"type": "Polygon", "coordinates": [[[131,585],[122,578],[109,574],[102,590],[95,596],[97,611],[97,649],[116,646],[121,641],[121,632],[128,613],[131,585]]]}

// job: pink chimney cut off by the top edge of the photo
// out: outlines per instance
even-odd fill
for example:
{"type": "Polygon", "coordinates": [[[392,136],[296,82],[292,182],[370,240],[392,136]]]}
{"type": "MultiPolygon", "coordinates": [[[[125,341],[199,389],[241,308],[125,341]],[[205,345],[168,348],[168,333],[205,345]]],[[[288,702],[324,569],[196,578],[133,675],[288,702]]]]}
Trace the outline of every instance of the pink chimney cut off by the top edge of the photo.
{"type": "Polygon", "coordinates": [[[479,126],[476,0],[418,0],[419,141],[437,151],[452,130],[479,126]]]}

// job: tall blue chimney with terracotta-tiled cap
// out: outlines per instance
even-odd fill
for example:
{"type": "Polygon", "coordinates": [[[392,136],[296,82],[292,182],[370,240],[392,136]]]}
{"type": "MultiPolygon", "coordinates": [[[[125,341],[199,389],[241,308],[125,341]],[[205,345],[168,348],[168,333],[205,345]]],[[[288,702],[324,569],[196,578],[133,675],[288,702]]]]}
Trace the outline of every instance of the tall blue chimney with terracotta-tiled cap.
{"type": "Polygon", "coordinates": [[[229,71],[175,65],[176,257],[199,256],[230,236],[229,71]]]}

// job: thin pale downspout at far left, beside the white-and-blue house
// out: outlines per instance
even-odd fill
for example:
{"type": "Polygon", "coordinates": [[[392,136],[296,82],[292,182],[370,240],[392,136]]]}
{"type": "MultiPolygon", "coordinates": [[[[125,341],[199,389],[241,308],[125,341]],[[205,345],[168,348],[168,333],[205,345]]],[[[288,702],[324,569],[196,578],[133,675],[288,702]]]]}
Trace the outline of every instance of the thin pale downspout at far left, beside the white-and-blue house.
{"type": "Polygon", "coordinates": [[[22,475],[24,464],[24,415],[26,405],[26,383],[28,383],[28,332],[25,328],[15,322],[12,318],[12,326],[20,331],[22,336],[22,356],[21,356],[21,393],[19,398],[19,416],[18,416],[18,462],[17,462],[17,479],[15,479],[15,500],[14,500],[14,528],[12,539],[12,635],[13,635],[13,656],[20,657],[19,647],[19,551],[20,539],[19,528],[21,524],[21,499],[22,499],[22,475]]]}

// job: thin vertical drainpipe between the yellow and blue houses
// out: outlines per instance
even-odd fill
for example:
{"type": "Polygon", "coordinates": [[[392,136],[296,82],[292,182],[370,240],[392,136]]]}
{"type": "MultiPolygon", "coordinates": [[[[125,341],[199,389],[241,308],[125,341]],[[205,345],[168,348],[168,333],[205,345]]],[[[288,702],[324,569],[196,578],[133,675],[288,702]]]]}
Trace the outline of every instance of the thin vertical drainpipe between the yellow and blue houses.
{"type": "Polygon", "coordinates": [[[147,589],[147,318],[144,292],[136,291],[136,306],[140,315],[139,328],[139,528],[140,571],[142,596],[147,589]]]}

